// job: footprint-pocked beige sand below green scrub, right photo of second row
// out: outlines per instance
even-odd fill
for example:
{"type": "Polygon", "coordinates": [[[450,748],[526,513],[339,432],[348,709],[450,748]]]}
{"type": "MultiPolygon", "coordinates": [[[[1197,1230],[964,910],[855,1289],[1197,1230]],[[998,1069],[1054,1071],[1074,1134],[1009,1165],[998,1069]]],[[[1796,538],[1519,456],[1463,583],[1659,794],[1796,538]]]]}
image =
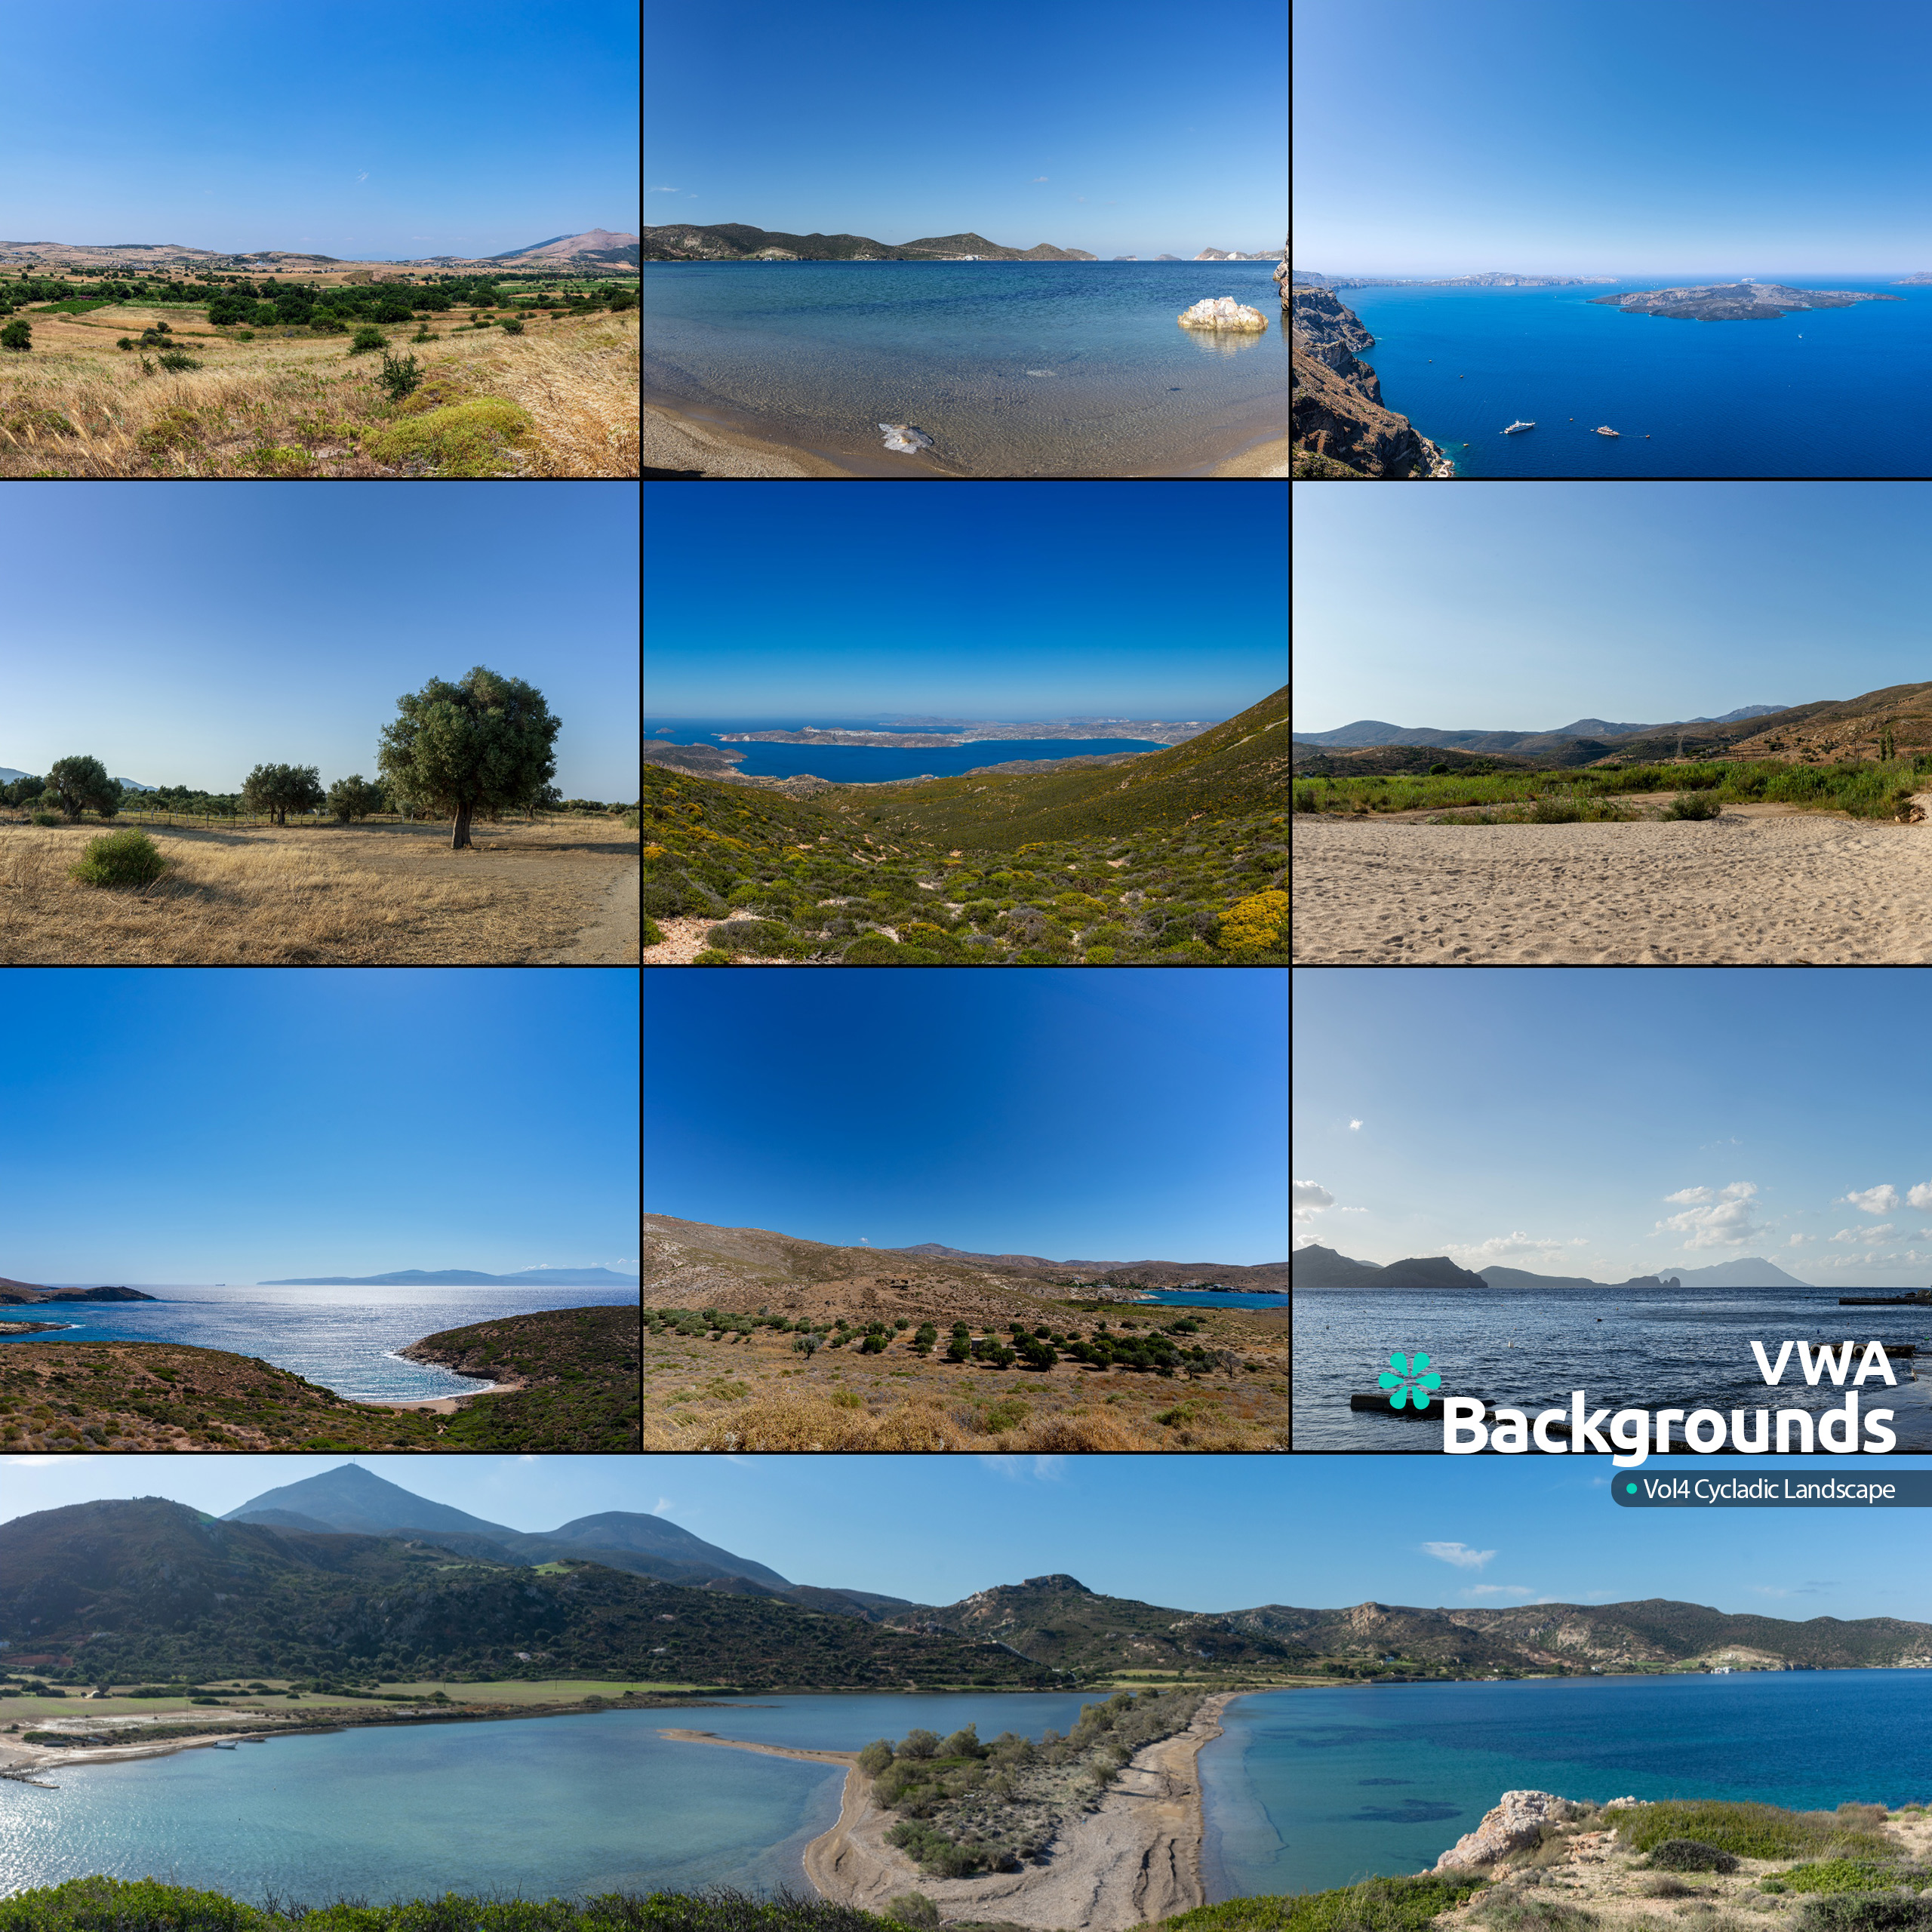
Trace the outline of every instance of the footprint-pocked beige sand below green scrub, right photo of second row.
{"type": "Polygon", "coordinates": [[[1932,960],[1932,827],[1725,808],[1627,825],[1314,819],[1296,960],[1905,966],[1932,960]]]}

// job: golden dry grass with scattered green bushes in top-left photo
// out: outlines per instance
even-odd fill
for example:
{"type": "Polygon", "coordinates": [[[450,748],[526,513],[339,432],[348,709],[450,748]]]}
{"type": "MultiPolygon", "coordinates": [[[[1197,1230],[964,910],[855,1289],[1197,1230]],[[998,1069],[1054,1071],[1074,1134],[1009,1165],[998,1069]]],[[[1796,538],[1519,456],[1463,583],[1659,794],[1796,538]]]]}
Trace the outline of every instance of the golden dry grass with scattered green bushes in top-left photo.
{"type": "Polygon", "coordinates": [[[383,334],[415,355],[423,388],[394,404],[377,386],[383,355],[348,336],[234,328],[189,311],[129,303],[89,315],[23,311],[33,350],[0,354],[0,477],[634,477],[638,475],[638,313],[529,319],[522,336],[435,325],[383,334]],[[168,375],[147,352],[116,350],[156,319],[203,361],[168,375]],[[527,421],[489,439],[483,460],[431,444],[377,454],[431,406],[495,400],[527,421]]]}

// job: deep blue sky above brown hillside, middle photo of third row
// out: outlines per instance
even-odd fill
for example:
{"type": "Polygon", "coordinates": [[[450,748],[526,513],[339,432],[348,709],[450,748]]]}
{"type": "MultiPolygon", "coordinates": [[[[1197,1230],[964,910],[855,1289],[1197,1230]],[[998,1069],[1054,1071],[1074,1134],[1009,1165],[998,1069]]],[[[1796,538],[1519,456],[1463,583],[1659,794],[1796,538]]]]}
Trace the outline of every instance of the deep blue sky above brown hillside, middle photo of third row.
{"type": "Polygon", "coordinates": [[[647,1213],[1053,1262],[1287,1254],[1283,972],[653,972],[647,1213]]]}

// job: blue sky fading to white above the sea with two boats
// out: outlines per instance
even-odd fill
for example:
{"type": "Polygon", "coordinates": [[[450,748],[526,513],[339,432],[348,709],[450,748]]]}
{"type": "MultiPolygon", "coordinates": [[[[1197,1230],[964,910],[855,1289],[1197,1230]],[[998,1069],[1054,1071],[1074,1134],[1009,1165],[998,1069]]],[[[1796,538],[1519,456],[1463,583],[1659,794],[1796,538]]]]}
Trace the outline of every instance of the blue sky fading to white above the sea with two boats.
{"type": "Polygon", "coordinates": [[[1932,269],[1932,15],[1874,0],[1296,0],[1325,274],[1932,269]]]}

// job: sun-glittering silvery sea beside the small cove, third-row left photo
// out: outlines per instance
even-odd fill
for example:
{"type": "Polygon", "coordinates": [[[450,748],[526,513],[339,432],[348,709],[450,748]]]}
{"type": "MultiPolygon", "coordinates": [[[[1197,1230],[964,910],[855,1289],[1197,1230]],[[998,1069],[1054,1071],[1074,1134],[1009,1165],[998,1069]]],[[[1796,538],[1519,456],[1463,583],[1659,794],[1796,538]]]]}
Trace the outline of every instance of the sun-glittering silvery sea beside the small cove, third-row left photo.
{"type": "Polygon", "coordinates": [[[255,1289],[151,1287],[129,1283],[153,1302],[50,1302],[17,1310],[29,1320],[66,1321],[35,1341],[174,1341],[228,1349],[294,1370],[338,1395],[419,1401],[475,1391],[479,1381],[394,1350],[442,1329],[491,1316],[545,1308],[603,1308],[636,1302],[636,1289],[255,1289]]]}

